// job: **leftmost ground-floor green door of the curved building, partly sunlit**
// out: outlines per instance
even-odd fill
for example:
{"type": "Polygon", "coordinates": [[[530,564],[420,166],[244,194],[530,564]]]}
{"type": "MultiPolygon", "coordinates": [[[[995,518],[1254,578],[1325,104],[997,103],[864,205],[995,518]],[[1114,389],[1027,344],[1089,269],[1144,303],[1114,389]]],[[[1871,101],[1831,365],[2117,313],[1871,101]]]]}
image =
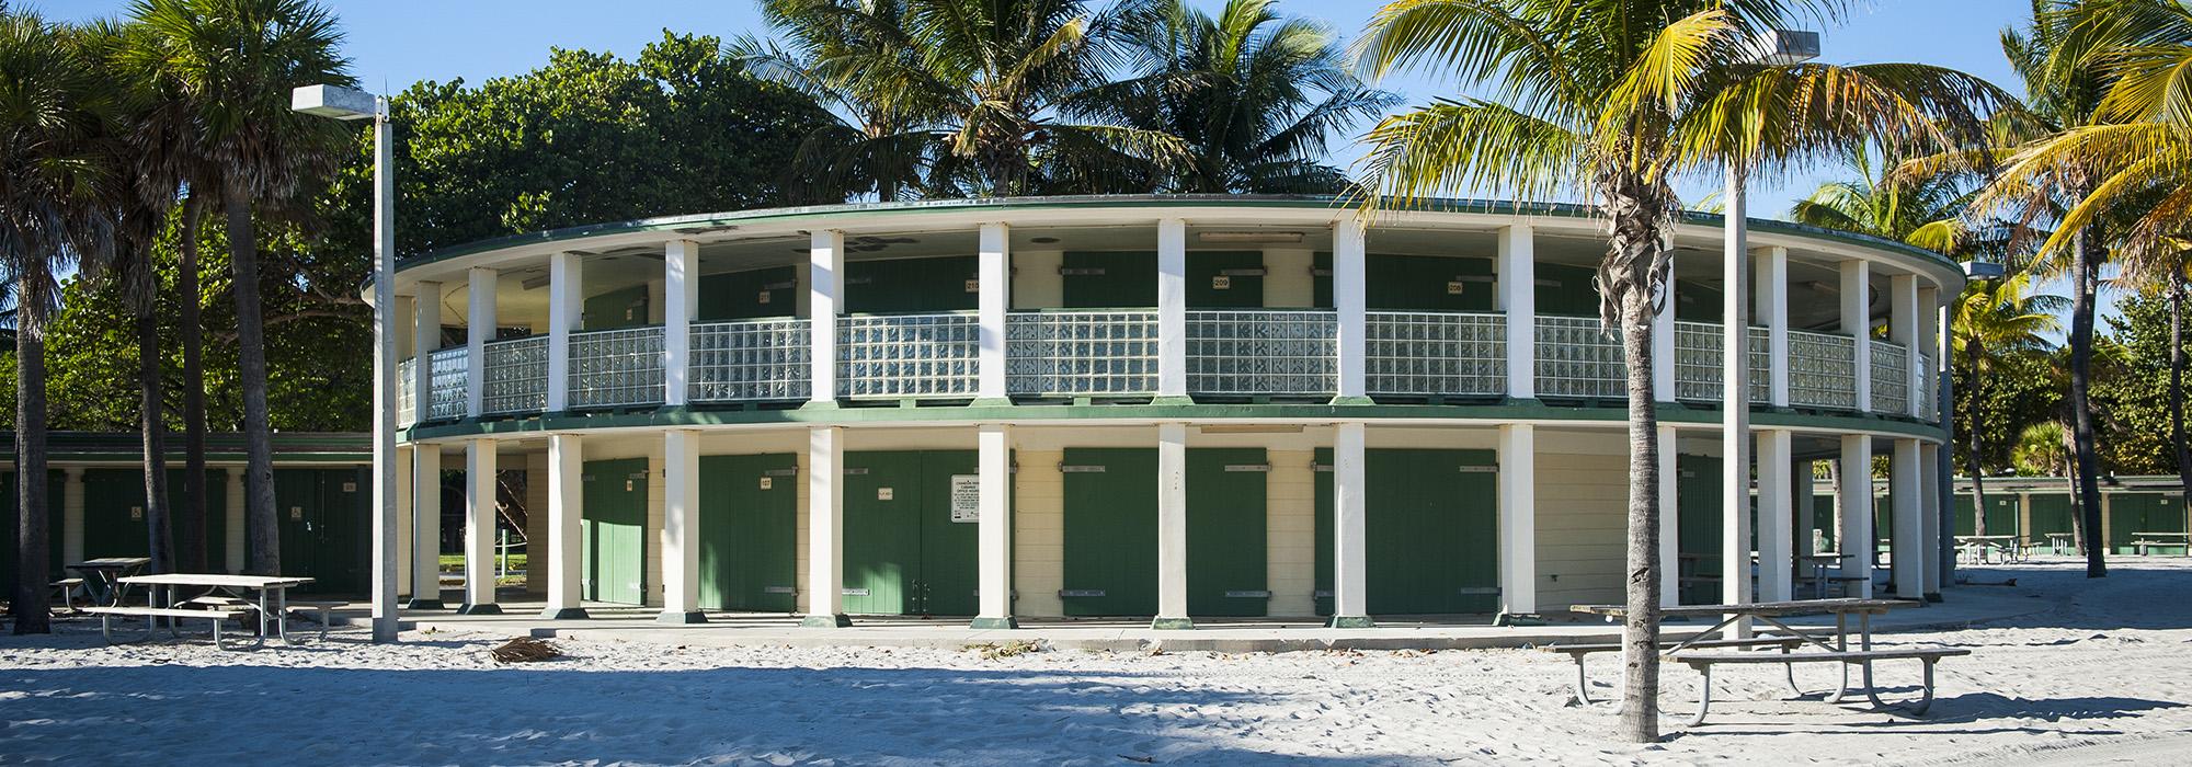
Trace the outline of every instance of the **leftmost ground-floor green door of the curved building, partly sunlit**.
{"type": "Polygon", "coordinates": [[[581,589],[596,603],[647,603],[647,458],[587,460],[581,589]]]}

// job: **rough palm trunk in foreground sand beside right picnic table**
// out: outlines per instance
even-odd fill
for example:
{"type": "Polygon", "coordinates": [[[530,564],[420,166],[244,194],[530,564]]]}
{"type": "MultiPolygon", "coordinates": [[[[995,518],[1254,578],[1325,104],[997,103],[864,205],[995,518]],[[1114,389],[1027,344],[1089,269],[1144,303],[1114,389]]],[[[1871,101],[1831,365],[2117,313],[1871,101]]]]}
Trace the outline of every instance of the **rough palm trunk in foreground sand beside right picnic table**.
{"type": "MultiPolygon", "coordinates": [[[[1622,734],[1659,741],[1659,412],[1651,390],[1651,291],[1618,294],[1629,364],[1629,554],[1622,620],[1622,734]]],[[[1672,307],[1668,307],[1672,311],[1672,307]]]]}

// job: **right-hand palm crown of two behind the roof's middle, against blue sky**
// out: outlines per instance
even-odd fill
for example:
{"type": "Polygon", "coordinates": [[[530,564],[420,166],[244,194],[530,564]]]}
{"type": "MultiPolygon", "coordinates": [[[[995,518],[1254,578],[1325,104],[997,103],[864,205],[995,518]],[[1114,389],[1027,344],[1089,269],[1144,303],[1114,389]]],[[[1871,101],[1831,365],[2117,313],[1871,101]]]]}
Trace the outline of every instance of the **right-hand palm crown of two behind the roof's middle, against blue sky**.
{"type": "Polygon", "coordinates": [[[1398,103],[1355,77],[1328,26],[1271,0],[1230,0],[1217,18],[1171,0],[1142,18],[1122,31],[1131,77],[1074,112],[1186,140],[1186,162],[1151,180],[1160,191],[1339,193],[1326,138],[1398,103]]]}

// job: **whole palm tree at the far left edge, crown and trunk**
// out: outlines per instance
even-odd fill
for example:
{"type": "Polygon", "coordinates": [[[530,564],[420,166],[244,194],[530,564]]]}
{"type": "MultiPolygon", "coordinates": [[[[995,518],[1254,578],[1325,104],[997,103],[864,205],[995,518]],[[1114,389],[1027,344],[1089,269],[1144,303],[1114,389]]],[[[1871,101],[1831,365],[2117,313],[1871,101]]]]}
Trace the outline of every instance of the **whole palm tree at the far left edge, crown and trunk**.
{"type": "Polygon", "coordinates": [[[0,11],[0,270],[15,283],[15,633],[48,633],[46,320],[55,274],[112,245],[114,90],[81,37],[0,11]]]}

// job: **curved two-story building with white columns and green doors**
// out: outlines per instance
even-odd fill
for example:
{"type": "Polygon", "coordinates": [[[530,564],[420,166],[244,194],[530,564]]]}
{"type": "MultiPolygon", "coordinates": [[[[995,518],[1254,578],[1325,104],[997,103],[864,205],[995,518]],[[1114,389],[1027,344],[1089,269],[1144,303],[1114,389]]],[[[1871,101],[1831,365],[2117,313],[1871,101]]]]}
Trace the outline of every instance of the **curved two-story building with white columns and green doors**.
{"type": "MultiPolygon", "coordinates": [[[[1600,228],[1567,206],[1361,226],[1333,199],[1046,197],[419,254],[397,274],[416,327],[399,482],[423,493],[399,493],[399,535],[434,539],[441,471],[491,489],[526,469],[555,618],[627,603],[680,622],[1361,627],[1620,600],[1626,410],[1596,320],[1600,228]]],[[[1686,219],[1677,245],[1653,370],[1679,456],[1666,598],[1806,594],[1828,539],[1879,541],[1841,546],[1852,592],[1876,561],[1881,587],[1936,592],[1931,392],[1957,265],[1778,221],[1725,248],[1716,217],[1686,219]],[[1865,482],[1839,519],[1813,511],[1817,460],[1872,456],[1892,465],[1887,524],[1861,513],[1865,482]]],[[[491,535],[471,541],[491,554],[491,535]]],[[[403,589],[432,583],[434,552],[399,557],[403,589]]],[[[478,581],[465,607],[489,611],[478,581]]]]}

